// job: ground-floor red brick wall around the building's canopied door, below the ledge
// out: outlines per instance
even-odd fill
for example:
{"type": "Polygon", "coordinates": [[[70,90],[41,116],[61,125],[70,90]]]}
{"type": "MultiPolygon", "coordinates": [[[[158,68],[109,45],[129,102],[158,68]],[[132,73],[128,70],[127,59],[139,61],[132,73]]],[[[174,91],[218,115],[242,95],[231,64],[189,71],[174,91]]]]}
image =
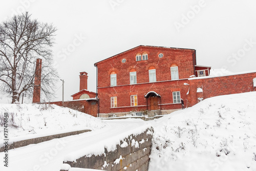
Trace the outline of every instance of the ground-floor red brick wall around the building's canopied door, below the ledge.
{"type": "Polygon", "coordinates": [[[100,98],[99,113],[150,110],[150,100],[144,97],[150,91],[155,91],[161,96],[158,97],[158,110],[181,109],[180,103],[173,103],[172,93],[180,91],[181,98],[186,105],[188,86],[184,86],[184,83],[188,83],[188,80],[173,80],[98,89],[100,98]],[[137,95],[138,106],[131,106],[131,95],[137,95]],[[115,96],[117,97],[117,108],[111,108],[111,97],[115,96]]]}

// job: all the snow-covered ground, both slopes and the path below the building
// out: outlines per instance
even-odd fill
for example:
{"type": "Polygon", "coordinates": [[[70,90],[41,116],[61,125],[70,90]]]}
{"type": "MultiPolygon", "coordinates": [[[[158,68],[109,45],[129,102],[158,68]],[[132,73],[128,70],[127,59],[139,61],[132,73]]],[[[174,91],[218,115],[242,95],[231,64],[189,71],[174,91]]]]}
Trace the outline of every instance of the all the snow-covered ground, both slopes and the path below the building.
{"type": "MultiPolygon", "coordinates": [[[[14,113],[14,123],[20,126],[9,128],[10,137],[93,131],[11,149],[9,167],[2,163],[0,170],[59,170],[63,160],[84,153],[101,154],[104,147],[114,149],[127,135],[149,126],[155,131],[149,171],[256,170],[256,92],[208,98],[153,121],[102,121],[55,105],[54,109],[41,108],[44,106],[38,104],[0,104],[1,111],[14,113]]],[[[3,127],[0,129],[3,136],[3,127]]]]}

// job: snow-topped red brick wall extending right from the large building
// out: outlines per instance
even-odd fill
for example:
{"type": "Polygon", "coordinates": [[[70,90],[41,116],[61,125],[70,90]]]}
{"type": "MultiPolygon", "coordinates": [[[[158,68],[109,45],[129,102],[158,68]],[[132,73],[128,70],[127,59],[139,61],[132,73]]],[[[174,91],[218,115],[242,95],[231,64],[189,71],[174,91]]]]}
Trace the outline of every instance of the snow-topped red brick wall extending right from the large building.
{"type": "Polygon", "coordinates": [[[190,92],[188,105],[192,106],[198,102],[197,97],[200,95],[197,93],[197,88],[203,89],[202,96],[204,99],[220,95],[254,91],[253,78],[255,77],[256,72],[203,79],[189,79],[190,92]]]}

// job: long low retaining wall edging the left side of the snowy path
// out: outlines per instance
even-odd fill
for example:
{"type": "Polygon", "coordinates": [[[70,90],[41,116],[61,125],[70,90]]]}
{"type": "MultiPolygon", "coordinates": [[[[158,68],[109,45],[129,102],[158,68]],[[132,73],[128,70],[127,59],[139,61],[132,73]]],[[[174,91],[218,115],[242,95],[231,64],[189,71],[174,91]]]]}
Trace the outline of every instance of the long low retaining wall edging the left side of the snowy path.
{"type": "MultiPolygon", "coordinates": [[[[68,132],[68,133],[62,133],[62,134],[32,138],[32,139],[27,139],[27,140],[22,140],[22,141],[16,141],[16,142],[8,144],[8,149],[14,149],[14,148],[26,146],[29,144],[37,144],[37,143],[49,141],[49,140],[52,140],[55,138],[62,138],[62,137],[67,137],[67,136],[71,136],[71,135],[77,135],[77,134],[81,134],[81,133],[85,133],[85,132],[89,132],[89,131],[91,131],[91,130],[73,131],[73,132],[68,132]]],[[[5,149],[5,146],[2,146],[0,148],[0,152],[4,152],[4,149],[5,149]]]]}

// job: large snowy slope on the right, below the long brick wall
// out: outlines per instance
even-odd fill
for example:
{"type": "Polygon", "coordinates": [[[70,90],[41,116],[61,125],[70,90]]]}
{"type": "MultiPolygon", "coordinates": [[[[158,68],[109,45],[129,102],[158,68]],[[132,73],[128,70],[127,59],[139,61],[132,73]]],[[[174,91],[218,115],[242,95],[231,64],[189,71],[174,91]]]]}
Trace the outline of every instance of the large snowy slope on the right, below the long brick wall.
{"type": "Polygon", "coordinates": [[[150,171],[256,170],[256,92],[208,98],[153,123],[150,171]]]}

